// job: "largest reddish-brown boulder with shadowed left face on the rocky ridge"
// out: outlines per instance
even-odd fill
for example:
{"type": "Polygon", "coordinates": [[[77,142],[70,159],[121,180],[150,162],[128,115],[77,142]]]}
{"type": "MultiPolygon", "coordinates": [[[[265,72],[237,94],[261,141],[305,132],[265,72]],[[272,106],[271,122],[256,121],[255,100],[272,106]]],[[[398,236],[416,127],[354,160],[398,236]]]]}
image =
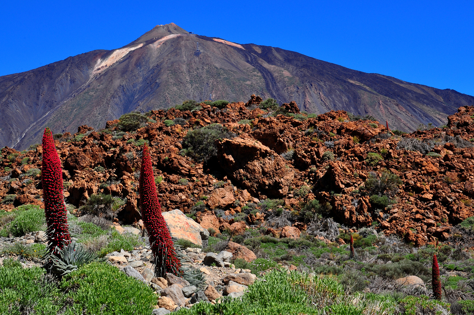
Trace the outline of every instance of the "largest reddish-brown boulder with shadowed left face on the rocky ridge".
{"type": "Polygon", "coordinates": [[[223,139],[218,144],[219,164],[252,195],[282,197],[294,178],[286,160],[254,139],[223,139]]]}

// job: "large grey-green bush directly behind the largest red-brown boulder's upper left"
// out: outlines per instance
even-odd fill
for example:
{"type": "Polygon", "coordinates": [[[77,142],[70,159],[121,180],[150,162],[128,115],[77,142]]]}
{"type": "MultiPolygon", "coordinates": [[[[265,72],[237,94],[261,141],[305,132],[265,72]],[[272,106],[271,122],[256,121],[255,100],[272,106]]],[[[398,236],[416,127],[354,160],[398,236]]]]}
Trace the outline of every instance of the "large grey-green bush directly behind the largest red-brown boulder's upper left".
{"type": "Polygon", "coordinates": [[[234,133],[228,132],[227,128],[220,124],[210,124],[188,131],[182,140],[182,147],[187,149],[187,154],[192,158],[207,162],[210,158],[217,156],[215,140],[232,139],[235,136],[234,133]]]}

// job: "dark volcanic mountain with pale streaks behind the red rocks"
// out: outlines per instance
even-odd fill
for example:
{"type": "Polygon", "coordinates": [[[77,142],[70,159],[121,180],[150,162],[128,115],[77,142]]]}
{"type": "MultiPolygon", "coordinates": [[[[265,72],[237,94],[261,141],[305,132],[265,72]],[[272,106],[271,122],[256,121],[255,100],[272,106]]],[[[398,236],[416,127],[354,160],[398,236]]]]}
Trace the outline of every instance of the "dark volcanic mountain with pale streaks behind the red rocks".
{"type": "Polygon", "coordinates": [[[102,128],[129,111],[168,108],[186,99],[240,101],[250,94],[389,120],[392,129],[441,125],[474,97],[381,74],[367,74],[296,52],[235,44],[159,25],[115,50],[95,50],[0,77],[0,146],[25,148],[45,126],[74,133],[102,128]]]}

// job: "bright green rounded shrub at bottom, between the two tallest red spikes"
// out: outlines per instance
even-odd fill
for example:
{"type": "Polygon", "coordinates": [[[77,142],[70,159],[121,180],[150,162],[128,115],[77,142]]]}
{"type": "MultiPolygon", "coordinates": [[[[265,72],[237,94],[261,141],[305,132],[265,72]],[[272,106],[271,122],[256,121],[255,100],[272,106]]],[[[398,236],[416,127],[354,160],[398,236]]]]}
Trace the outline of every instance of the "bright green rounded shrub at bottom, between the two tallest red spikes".
{"type": "Polygon", "coordinates": [[[75,314],[151,314],[153,290],[106,263],[84,265],[63,278],[75,314]]]}

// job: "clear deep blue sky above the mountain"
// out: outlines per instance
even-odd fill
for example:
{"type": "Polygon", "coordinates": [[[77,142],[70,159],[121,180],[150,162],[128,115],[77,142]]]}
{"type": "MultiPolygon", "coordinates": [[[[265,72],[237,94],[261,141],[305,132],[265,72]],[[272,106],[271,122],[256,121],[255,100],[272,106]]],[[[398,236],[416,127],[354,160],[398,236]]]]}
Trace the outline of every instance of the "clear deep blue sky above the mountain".
{"type": "Polygon", "coordinates": [[[0,75],[124,46],[157,24],[474,95],[474,1],[4,1],[0,75]]]}

